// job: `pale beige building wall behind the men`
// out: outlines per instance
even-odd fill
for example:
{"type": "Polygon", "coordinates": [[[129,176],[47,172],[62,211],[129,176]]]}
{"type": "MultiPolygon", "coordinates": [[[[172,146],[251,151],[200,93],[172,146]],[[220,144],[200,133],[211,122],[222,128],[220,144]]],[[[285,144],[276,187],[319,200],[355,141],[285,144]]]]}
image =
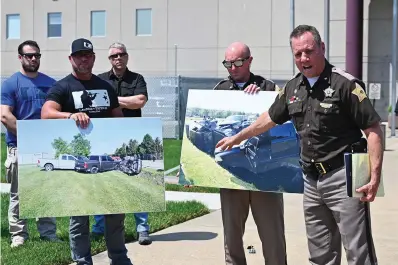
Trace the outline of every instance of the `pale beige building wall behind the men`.
{"type": "MultiPolygon", "coordinates": [[[[25,39],[39,42],[41,70],[63,76],[70,72],[67,56],[73,39],[92,40],[97,53],[94,72],[109,70],[107,48],[124,42],[129,68],[145,76],[225,77],[221,65],[233,41],[251,47],[253,72],[272,79],[288,79],[296,71],[289,47],[290,0],[2,0],[5,15],[21,14],[21,40],[7,40],[2,30],[1,74],[19,68],[16,47],[25,39]],[[135,9],[152,8],[152,36],[135,36],[135,9]],[[90,11],[106,10],[105,37],[90,37],[90,11]],[[33,12],[32,12],[33,11],[33,12]],[[63,14],[62,37],[47,38],[47,12],[63,14]],[[176,46],[175,46],[176,45],[176,46]]],[[[383,84],[383,100],[376,108],[384,115],[389,93],[392,0],[364,1],[364,81],[383,84]],[[368,75],[369,73],[369,75],[368,75]]],[[[295,25],[312,24],[324,36],[324,1],[296,0],[295,25]]],[[[346,0],[330,1],[330,62],[345,68],[346,0]]]]}

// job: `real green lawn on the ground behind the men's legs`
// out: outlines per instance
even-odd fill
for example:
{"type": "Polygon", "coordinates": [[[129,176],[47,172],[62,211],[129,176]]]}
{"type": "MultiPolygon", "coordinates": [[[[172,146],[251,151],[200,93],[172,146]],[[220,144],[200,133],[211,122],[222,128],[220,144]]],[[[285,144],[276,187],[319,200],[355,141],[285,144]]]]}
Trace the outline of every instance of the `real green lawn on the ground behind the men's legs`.
{"type": "MultiPolygon", "coordinates": [[[[11,249],[8,230],[7,208],[9,195],[1,195],[1,264],[4,265],[66,265],[72,263],[69,248],[68,217],[57,218],[57,235],[62,243],[41,241],[34,219],[28,220],[30,239],[25,245],[11,249]]],[[[165,212],[149,213],[150,233],[165,229],[190,219],[208,214],[210,211],[198,202],[167,202],[165,212]]],[[[93,218],[90,217],[90,224],[93,218]]],[[[136,240],[133,214],[126,215],[126,243],[136,240]]],[[[91,242],[92,255],[106,251],[104,239],[91,242]]],[[[132,253],[134,257],[134,253],[132,253]]],[[[132,260],[134,262],[134,260],[132,260]]]]}

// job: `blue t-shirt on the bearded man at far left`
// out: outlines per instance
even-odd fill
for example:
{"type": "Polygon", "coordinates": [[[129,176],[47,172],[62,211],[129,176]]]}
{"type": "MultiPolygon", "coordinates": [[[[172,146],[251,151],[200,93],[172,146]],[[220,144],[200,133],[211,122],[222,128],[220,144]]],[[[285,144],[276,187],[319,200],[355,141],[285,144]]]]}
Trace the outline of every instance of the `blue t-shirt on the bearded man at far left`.
{"type": "MultiPolygon", "coordinates": [[[[36,78],[30,78],[17,72],[6,79],[1,87],[1,104],[13,107],[17,120],[40,119],[41,108],[55,79],[39,72],[36,78]]],[[[6,143],[17,144],[17,137],[7,131],[6,143]]]]}

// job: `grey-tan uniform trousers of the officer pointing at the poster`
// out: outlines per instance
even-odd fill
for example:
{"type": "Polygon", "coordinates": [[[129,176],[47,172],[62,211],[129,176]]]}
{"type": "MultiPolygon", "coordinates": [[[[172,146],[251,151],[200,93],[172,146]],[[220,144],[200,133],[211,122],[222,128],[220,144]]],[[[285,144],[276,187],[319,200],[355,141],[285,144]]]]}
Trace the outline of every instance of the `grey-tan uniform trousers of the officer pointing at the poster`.
{"type": "Polygon", "coordinates": [[[347,197],[344,167],[305,176],[303,206],[311,264],[341,264],[341,242],[348,265],[377,264],[369,203],[347,197]]]}

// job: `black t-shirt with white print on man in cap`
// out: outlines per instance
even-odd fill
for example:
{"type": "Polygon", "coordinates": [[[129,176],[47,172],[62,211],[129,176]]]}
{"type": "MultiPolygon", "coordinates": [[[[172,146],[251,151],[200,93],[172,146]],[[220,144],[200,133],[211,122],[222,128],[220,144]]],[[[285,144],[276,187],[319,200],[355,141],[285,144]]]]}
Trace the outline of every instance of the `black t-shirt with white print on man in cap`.
{"type": "Polygon", "coordinates": [[[66,76],[49,90],[48,100],[60,104],[62,112],[85,112],[90,118],[112,117],[112,109],[119,107],[115,90],[96,75],[90,80],[66,76]]]}

